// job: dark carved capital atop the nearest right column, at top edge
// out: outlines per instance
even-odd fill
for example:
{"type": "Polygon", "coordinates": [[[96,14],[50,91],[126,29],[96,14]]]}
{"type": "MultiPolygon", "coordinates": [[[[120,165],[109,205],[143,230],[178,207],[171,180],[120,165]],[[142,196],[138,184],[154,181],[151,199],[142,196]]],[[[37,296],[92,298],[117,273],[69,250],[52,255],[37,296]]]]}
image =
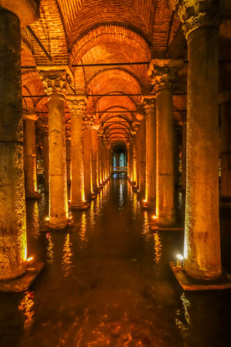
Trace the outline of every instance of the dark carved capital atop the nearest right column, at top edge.
{"type": "Polygon", "coordinates": [[[176,13],[185,37],[198,28],[219,28],[221,8],[221,0],[176,0],[176,13]]]}

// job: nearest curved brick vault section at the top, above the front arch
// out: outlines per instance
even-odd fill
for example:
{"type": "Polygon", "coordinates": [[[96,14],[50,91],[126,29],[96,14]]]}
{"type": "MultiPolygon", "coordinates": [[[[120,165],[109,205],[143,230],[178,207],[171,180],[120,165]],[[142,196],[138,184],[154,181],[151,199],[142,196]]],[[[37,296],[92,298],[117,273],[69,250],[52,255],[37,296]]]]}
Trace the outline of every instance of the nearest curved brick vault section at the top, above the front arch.
{"type": "Polygon", "coordinates": [[[153,23],[153,0],[57,0],[69,49],[80,34],[100,22],[130,24],[148,37],[153,23]]]}

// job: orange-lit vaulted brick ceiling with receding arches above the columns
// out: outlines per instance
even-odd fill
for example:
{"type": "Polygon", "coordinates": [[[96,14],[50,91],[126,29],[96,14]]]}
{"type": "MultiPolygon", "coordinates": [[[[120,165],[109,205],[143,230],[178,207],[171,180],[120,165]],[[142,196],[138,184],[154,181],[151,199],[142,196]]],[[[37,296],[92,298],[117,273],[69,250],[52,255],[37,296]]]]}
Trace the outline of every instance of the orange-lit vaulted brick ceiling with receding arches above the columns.
{"type": "MultiPolygon", "coordinates": [[[[230,8],[225,6],[229,12],[230,8]]],[[[230,42],[229,27],[230,20],[225,17],[221,44],[225,40],[230,42]]],[[[166,6],[166,0],[42,0],[40,19],[31,24],[31,28],[52,60],[30,31],[23,28],[22,65],[69,65],[74,74],[72,87],[77,94],[89,95],[87,112],[96,112],[96,121],[101,122],[102,128],[106,126],[108,132],[118,133],[119,142],[125,141],[125,127],[128,126],[129,130],[132,122],[136,121],[132,111],[140,106],[141,97],[91,95],[150,92],[148,66],[105,67],[103,63],[148,62],[151,57],[185,58],[187,53],[180,22],[166,6]],[[76,67],[93,63],[97,66],[76,67]],[[105,112],[108,110],[110,112],[105,112]],[[105,125],[109,115],[110,122],[105,125]],[[121,117],[125,117],[128,123],[120,122],[121,117]]],[[[186,81],[187,71],[181,74],[180,92],[186,91],[186,81]]],[[[25,96],[44,94],[37,69],[22,70],[22,85],[25,96]]],[[[182,103],[182,99],[175,98],[175,108],[180,109],[182,104],[185,108],[185,100],[182,103]]],[[[24,98],[24,108],[36,106],[37,112],[43,111],[38,126],[47,121],[46,102],[46,97],[42,96],[30,101],[24,98]]],[[[174,115],[180,117],[180,113],[174,115]]],[[[66,117],[68,126],[67,105],[66,117]]]]}

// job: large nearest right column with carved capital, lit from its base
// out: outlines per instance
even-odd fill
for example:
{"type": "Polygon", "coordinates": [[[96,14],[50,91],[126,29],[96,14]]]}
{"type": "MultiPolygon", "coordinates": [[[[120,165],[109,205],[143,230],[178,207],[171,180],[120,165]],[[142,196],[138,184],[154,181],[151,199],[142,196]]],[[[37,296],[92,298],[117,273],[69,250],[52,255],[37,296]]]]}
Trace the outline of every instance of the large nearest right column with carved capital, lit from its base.
{"type": "Polygon", "coordinates": [[[184,269],[189,276],[207,280],[221,274],[217,50],[220,4],[202,0],[198,6],[197,1],[180,1],[176,9],[183,22],[189,57],[184,269]]]}

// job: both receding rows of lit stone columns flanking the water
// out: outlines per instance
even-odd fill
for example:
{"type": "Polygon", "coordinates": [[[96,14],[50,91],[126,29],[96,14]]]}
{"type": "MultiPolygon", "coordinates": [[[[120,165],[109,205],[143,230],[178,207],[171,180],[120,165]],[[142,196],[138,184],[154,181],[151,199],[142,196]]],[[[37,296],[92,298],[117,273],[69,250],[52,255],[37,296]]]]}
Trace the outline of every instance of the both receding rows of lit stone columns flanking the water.
{"type": "MultiPolygon", "coordinates": [[[[33,1],[31,1],[33,2],[33,1]]],[[[218,51],[219,1],[207,1],[201,12],[193,1],[177,1],[188,45],[185,263],[189,276],[203,279],[221,274],[219,230],[219,117],[218,51]],[[193,7],[193,11],[190,10],[193,7]],[[206,19],[205,19],[206,18],[206,19]],[[212,73],[211,73],[212,71],[212,73]],[[205,87],[206,86],[206,87],[205,87]]],[[[1,117],[0,124],[0,280],[26,271],[26,212],[19,15],[0,10],[1,117]],[[13,49],[12,49],[13,46],[13,49]],[[10,62],[10,63],[9,63],[10,62]],[[10,68],[9,68],[10,67],[10,68]],[[8,92],[10,90],[10,93],[8,92]],[[2,242],[3,241],[3,242],[2,242]]],[[[33,16],[35,18],[35,15],[33,16]]],[[[179,60],[151,60],[153,94],[144,96],[146,119],[128,143],[128,175],[144,195],[160,226],[173,226],[173,87],[179,60]],[[146,126],[145,126],[146,124],[146,126]],[[146,141],[144,139],[146,138],[146,141]],[[145,163],[145,164],[144,164],[145,163]]],[[[49,186],[49,227],[68,226],[67,183],[71,208],[87,208],[87,201],[108,179],[110,149],[86,114],[84,95],[69,95],[68,68],[39,67],[48,96],[49,126],[44,128],[45,183],[49,186]],[[71,113],[66,138],[65,101],[71,113]],[[69,144],[67,146],[67,142],[69,144]],[[49,153],[49,158],[47,153],[49,153]],[[67,175],[68,171],[68,175],[67,175]]],[[[35,156],[35,114],[24,115],[26,194],[38,197],[35,156]]],[[[221,196],[230,198],[230,141],[227,105],[221,108],[221,196]]],[[[185,183],[184,183],[185,184],[185,183]]]]}

